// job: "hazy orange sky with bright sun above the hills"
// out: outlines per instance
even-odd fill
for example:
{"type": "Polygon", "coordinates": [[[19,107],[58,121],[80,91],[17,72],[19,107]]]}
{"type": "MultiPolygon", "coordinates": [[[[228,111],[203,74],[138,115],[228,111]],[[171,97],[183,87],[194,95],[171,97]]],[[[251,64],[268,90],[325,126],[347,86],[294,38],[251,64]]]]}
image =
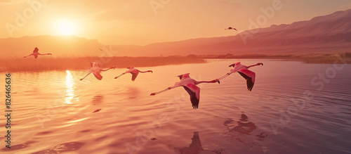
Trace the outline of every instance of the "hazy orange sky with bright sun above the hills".
{"type": "Polygon", "coordinates": [[[350,0],[0,0],[0,38],[73,34],[105,45],[145,45],[237,34],[351,8],[350,0]],[[273,7],[274,6],[274,7],[273,7]],[[272,15],[271,15],[272,14],[272,15]]]}

